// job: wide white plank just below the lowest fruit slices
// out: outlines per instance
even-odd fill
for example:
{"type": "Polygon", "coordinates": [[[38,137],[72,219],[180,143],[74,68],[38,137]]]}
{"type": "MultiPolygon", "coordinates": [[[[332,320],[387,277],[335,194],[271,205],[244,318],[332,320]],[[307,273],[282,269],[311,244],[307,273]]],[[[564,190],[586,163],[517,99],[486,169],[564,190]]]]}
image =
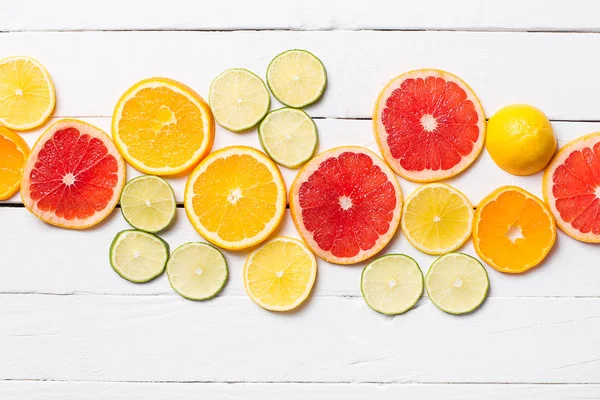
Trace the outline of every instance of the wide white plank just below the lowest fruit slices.
{"type": "Polygon", "coordinates": [[[600,299],[489,299],[386,317],[361,299],[0,296],[0,379],[600,383],[600,299]],[[359,322],[360,321],[360,322],[359,322]]]}

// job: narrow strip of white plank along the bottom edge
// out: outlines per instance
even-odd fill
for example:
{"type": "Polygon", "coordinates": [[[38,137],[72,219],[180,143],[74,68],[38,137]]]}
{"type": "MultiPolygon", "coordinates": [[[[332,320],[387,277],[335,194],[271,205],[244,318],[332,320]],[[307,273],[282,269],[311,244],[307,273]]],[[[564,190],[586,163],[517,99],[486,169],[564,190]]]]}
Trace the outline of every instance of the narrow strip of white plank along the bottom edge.
{"type": "Polygon", "coordinates": [[[0,382],[0,397],[10,400],[571,400],[598,393],[600,385],[0,382]]]}

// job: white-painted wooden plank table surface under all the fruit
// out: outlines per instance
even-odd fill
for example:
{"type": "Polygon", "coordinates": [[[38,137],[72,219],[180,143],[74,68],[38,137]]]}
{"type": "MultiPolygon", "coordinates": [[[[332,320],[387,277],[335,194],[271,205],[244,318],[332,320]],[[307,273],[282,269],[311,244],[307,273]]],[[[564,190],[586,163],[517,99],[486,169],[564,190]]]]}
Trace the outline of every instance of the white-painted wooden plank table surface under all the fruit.
{"type": "MultiPolygon", "coordinates": [[[[327,67],[325,96],[307,109],[320,151],[376,150],[379,90],[421,67],[462,77],[488,116],[515,102],[541,108],[560,144],[600,130],[595,1],[285,3],[2,0],[0,58],[39,59],[57,89],[53,119],[107,132],[119,96],[142,78],[178,79],[206,97],[222,70],[264,76],[289,48],[327,67]]],[[[23,137],[33,144],[40,132],[23,137]]],[[[258,146],[257,135],[217,129],[214,148],[232,144],[258,146]]],[[[283,173],[289,184],[294,171],[283,173]]],[[[539,195],[540,179],[508,175],[484,152],[450,183],[477,204],[503,184],[539,195]]],[[[171,182],[181,201],[184,180],[171,182]]],[[[600,247],[562,233],[530,273],[488,268],[490,297],[470,315],[444,314],[426,296],[405,315],[379,315],[360,295],[364,264],[323,261],[308,304],[275,314],[245,294],[246,253],[226,253],[219,297],[191,302],[164,276],[135,285],[111,270],[110,241],[127,228],[119,210],[76,232],[39,222],[18,196],[0,206],[0,399],[600,398],[600,247]]],[[[279,232],[297,235],[289,215],[279,232]]],[[[172,248],[201,240],[182,208],[164,237],[172,248]]],[[[385,251],[424,272],[432,261],[402,235],[385,251]]]]}

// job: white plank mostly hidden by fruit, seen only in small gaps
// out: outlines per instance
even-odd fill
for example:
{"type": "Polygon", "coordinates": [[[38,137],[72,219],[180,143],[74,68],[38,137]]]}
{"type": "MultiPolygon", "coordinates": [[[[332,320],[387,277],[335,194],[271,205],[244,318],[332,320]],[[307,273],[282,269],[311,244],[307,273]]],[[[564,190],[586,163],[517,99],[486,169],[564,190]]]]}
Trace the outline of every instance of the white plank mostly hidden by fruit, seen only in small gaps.
{"type": "MultiPolygon", "coordinates": [[[[110,118],[83,119],[110,134],[110,118]]],[[[57,118],[52,119],[52,121],[55,120],[57,120],[57,118]]],[[[375,151],[377,154],[380,154],[373,136],[370,120],[318,119],[315,122],[319,130],[319,152],[338,146],[357,145],[366,147],[375,151]]],[[[600,123],[598,122],[554,122],[553,126],[559,141],[559,146],[584,134],[600,131],[600,123]]],[[[30,133],[22,134],[22,137],[30,145],[33,145],[42,132],[43,129],[37,129],[30,133]]],[[[246,145],[262,149],[258,141],[256,130],[243,134],[236,134],[218,126],[213,149],[232,145],[246,145]]],[[[280,167],[279,169],[281,170],[289,189],[298,170],[291,170],[284,167],[280,167]]],[[[128,167],[127,174],[129,178],[140,175],[138,171],[131,167],[128,167]]],[[[488,193],[502,185],[520,186],[541,197],[541,176],[542,174],[539,173],[522,177],[504,172],[494,164],[487,151],[484,150],[474,165],[459,176],[449,179],[447,183],[460,189],[467,195],[471,202],[476,205],[488,193]]],[[[180,204],[183,203],[183,192],[186,179],[187,177],[169,179],[169,182],[175,190],[177,201],[180,204]]],[[[398,179],[400,180],[400,186],[402,187],[405,196],[408,196],[418,186],[417,184],[404,179],[398,179]]],[[[22,204],[19,194],[16,194],[12,199],[7,200],[7,202],[22,204]]]]}

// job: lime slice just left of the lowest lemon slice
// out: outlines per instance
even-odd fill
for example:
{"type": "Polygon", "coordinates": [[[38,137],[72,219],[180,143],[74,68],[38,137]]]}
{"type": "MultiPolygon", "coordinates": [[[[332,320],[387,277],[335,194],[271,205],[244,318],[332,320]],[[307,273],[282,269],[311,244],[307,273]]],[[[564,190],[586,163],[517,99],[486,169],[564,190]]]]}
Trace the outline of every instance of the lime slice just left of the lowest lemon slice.
{"type": "Polygon", "coordinates": [[[186,243],[175,249],[167,263],[171,287],[190,300],[215,297],[227,282],[229,272],[223,253],[202,242],[186,243]]]}

